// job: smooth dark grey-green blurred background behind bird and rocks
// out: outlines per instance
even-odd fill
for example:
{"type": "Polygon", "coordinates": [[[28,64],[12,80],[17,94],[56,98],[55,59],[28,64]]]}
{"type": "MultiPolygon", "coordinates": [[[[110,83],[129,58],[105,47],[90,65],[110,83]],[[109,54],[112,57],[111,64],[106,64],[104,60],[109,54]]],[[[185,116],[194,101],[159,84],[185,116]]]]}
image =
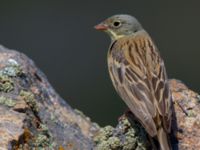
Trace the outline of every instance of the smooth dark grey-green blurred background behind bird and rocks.
{"type": "Polygon", "coordinates": [[[100,125],[127,109],[107,71],[109,37],[93,26],[120,13],[151,34],[170,78],[199,91],[200,1],[13,0],[0,2],[0,44],[32,58],[73,108],[100,125]]]}

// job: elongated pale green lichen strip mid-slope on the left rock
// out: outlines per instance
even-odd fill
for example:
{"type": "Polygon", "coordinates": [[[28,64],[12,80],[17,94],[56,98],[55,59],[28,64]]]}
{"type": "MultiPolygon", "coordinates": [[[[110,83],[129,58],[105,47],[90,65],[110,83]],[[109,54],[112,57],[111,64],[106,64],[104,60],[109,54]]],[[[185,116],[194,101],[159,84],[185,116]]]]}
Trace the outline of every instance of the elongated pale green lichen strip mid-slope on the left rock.
{"type": "Polygon", "coordinates": [[[36,103],[36,99],[31,92],[21,91],[20,94],[21,98],[28,104],[28,106],[35,112],[39,111],[39,108],[36,103]]]}

